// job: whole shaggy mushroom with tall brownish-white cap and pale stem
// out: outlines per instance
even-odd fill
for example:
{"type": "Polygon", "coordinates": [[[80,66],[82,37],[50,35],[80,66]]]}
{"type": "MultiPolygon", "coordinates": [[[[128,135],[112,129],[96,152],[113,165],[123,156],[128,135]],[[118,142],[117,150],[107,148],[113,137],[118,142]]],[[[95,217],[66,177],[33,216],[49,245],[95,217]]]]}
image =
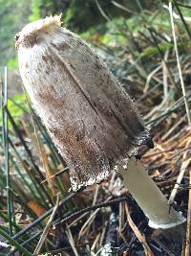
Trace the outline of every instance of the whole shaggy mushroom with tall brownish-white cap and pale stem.
{"type": "Polygon", "coordinates": [[[72,188],[99,183],[116,169],[154,228],[184,222],[135,159],[150,140],[136,105],[106,64],[60,16],[16,35],[19,69],[33,107],[74,170],[72,188]]]}

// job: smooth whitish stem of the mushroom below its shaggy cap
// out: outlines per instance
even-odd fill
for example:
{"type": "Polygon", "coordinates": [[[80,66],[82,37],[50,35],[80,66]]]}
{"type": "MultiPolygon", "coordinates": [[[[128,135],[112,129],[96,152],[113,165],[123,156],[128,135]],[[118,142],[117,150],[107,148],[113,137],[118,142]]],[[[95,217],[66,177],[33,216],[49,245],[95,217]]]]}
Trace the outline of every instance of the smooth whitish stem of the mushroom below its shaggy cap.
{"type": "Polygon", "coordinates": [[[185,221],[180,212],[176,212],[173,208],[169,211],[167,198],[162,195],[158,186],[146,174],[135,157],[131,157],[127,166],[119,166],[118,173],[123,177],[124,186],[149,219],[151,227],[166,229],[185,221]]]}

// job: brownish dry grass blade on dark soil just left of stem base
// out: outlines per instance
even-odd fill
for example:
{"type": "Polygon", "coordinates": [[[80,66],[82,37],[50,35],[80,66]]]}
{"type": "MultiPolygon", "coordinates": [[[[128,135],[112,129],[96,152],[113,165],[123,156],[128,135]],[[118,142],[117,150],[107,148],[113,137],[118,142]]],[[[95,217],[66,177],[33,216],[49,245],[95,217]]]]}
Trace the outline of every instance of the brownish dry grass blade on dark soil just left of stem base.
{"type": "Polygon", "coordinates": [[[126,212],[126,215],[127,215],[127,221],[129,223],[129,225],[131,226],[132,230],[136,234],[136,236],[138,238],[138,241],[142,244],[142,246],[144,248],[145,255],[146,256],[154,256],[152,250],[150,249],[149,245],[146,242],[145,236],[140,233],[140,231],[138,230],[137,225],[131,219],[131,216],[130,216],[130,213],[129,213],[129,207],[128,207],[127,202],[125,202],[125,212],[126,212]]]}

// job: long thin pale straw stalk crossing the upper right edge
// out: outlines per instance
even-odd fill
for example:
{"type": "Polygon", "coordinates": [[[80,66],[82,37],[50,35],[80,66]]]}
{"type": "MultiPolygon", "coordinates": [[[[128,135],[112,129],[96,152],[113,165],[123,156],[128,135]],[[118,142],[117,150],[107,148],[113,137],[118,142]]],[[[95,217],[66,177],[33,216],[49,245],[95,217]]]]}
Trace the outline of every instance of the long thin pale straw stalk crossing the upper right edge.
{"type": "Polygon", "coordinates": [[[178,65],[179,74],[180,74],[181,90],[182,90],[182,94],[183,94],[184,105],[185,105],[185,110],[186,110],[187,119],[188,119],[188,125],[190,127],[191,126],[191,116],[190,116],[189,105],[188,105],[188,102],[187,102],[185,86],[184,86],[184,82],[183,82],[183,78],[182,78],[180,58],[179,58],[179,50],[178,50],[178,45],[177,45],[177,37],[176,37],[176,33],[175,33],[175,24],[174,24],[174,19],[173,19],[173,9],[172,9],[172,3],[171,2],[169,2],[169,12],[170,12],[173,39],[174,39],[174,44],[175,44],[175,53],[176,53],[176,58],[177,58],[177,65],[178,65]]]}

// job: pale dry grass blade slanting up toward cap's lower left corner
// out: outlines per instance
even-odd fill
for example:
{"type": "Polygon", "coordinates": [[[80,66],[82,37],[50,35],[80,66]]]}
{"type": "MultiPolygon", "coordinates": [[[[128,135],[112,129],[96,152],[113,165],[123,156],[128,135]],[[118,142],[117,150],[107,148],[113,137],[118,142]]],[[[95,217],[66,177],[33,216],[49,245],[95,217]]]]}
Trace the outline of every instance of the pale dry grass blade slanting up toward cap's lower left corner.
{"type": "Polygon", "coordinates": [[[38,244],[36,245],[36,248],[35,248],[35,250],[33,252],[33,255],[38,255],[38,253],[40,252],[40,249],[41,249],[42,245],[44,244],[45,239],[46,239],[46,237],[48,235],[49,229],[50,229],[50,227],[51,227],[51,225],[53,223],[53,218],[54,218],[54,216],[56,214],[58,206],[59,206],[59,195],[56,198],[55,206],[53,208],[53,213],[52,213],[49,221],[46,224],[46,227],[45,227],[45,229],[44,229],[44,231],[43,231],[43,233],[42,233],[42,235],[40,237],[40,240],[39,240],[38,244]]]}

